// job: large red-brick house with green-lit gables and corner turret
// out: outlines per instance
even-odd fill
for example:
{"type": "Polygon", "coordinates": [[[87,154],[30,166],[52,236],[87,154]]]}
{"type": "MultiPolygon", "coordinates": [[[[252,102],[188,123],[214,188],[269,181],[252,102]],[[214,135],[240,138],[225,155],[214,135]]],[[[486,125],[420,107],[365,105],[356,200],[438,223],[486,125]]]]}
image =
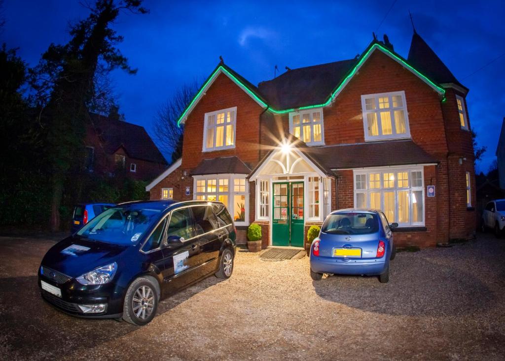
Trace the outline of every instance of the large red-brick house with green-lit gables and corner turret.
{"type": "Polygon", "coordinates": [[[303,247],[331,210],[382,209],[398,246],[472,237],[468,89],[417,33],[407,58],[374,39],[354,59],[255,86],[223,61],[182,113],[182,157],[151,199],[220,200],[241,240],[303,247]]]}

